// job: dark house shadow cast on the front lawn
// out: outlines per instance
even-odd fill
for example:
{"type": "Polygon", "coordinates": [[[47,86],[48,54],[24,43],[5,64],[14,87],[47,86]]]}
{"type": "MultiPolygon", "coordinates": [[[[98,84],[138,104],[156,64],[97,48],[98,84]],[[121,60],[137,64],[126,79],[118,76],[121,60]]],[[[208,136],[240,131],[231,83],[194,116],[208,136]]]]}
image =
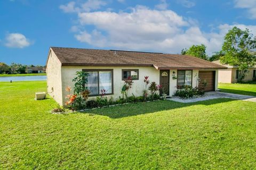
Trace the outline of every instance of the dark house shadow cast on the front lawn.
{"type": "Polygon", "coordinates": [[[170,101],[170,100],[162,100],[162,101],[154,101],[154,102],[146,102],[146,103],[121,105],[121,106],[115,106],[115,107],[99,108],[99,109],[87,111],[86,113],[108,116],[110,118],[122,118],[122,117],[160,112],[160,111],[169,111],[171,109],[188,107],[193,105],[208,106],[208,105],[214,105],[219,103],[225,103],[233,100],[234,99],[220,98],[220,99],[199,101],[196,103],[179,103],[179,102],[170,101]]]}

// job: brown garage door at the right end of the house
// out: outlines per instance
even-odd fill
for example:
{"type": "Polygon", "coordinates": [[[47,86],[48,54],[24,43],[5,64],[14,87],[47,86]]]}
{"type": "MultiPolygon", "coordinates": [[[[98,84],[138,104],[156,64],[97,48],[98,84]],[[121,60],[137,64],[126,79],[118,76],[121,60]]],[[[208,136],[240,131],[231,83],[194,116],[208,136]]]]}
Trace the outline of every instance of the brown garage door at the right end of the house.
{"type": "Polygon", "coordinates": [[[215,90],[215,71],[199,71],[199,87],[204,87],[203,82],[206,81],[207,85],[205,91],[215,90]]]}

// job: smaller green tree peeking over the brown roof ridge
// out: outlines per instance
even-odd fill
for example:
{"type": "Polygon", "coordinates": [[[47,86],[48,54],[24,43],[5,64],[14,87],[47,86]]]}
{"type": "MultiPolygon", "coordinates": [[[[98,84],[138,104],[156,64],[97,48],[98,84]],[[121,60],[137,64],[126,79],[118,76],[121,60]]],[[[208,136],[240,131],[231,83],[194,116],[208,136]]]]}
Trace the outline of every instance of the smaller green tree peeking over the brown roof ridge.
{"type": "Polygon", "coordinates": [[[193,45],[189,49],[185,48],[181,50],[181,54],[183,55],[191,55],[194,57],[202,58],[204,60],[207,60],[206,55],[206,46],[204,44],[201,45],[193,45]]]}

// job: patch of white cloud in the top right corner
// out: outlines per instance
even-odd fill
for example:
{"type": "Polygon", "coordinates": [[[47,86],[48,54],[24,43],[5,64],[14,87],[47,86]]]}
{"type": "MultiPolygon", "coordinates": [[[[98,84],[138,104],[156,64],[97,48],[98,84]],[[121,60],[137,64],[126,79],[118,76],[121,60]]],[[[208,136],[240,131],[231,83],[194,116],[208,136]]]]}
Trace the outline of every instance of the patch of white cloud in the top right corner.
{"type": "Polygon", "coordinates": [[[256,19],[256,0],[235,0],[235,7],[246,8],[249,18],[256,19]]]}

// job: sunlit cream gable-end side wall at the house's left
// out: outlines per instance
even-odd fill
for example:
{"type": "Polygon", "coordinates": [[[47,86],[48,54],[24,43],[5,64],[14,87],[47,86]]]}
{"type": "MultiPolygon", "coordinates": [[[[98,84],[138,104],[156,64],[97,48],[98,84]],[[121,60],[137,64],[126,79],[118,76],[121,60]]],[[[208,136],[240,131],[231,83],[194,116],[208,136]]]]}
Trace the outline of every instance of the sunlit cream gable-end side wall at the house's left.
{"type": "Polygon", "coordinates": [[[52,50],[50,50],[48,57],[47,92],[57,103],[62,105],[61,63],[52,50]]]}

